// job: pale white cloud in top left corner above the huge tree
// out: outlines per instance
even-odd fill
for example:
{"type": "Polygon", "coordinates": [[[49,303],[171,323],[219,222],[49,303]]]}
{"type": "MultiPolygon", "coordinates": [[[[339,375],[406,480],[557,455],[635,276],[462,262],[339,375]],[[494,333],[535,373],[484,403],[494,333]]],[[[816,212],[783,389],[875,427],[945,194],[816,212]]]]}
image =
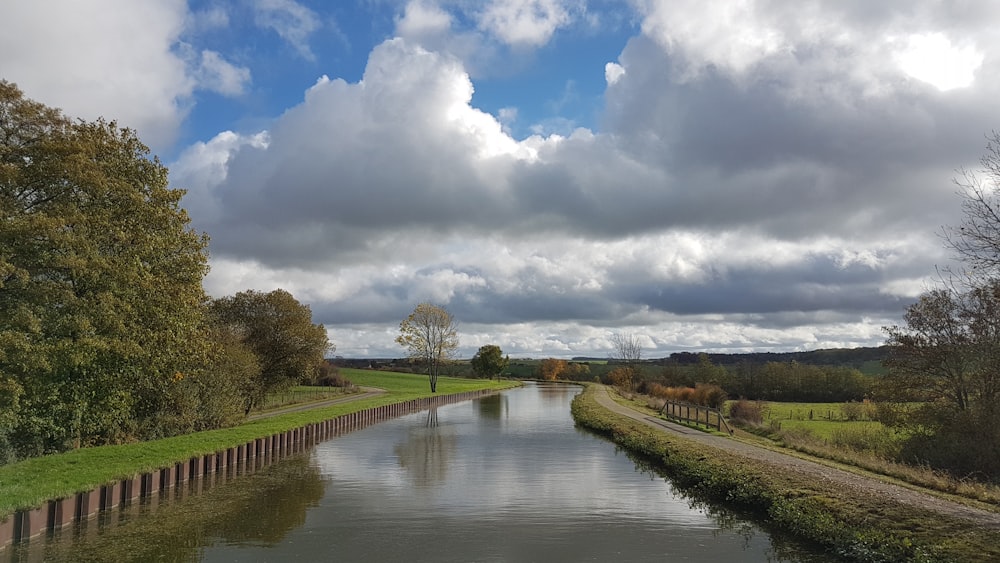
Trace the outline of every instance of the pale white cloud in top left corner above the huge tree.
{"type": "Polygon", "coordinates": [[[197,87],[173,52],[186,15],[176,0],[0,3],[3,78],[68,115],[116,119],[168,146],[197,87]]]}

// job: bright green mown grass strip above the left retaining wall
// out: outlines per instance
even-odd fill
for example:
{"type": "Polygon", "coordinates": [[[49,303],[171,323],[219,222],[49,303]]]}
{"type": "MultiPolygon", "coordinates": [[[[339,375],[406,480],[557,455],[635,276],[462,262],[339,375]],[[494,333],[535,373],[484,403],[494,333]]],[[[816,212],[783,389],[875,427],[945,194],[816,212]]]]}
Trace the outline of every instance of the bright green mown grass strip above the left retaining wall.
{"type": "MultiPolygon", "coordinates": [[[[20,509],[41,506],[52,499],[66,498],[117,479],[168,467],[178,461],[225,450],[256,438],[370,407],[432,396],[426,376],[362,370],[342,370],[342,375],[357,385],[379,387],[387,392],[349,403],[255,420],[232,428],[136,444],[83,448],[2,466],[0,520],[20,509]]],[[[516,383],[510,381],[498,383],[442,377],[438,381],[437,394],[450,395],[514,385],[516,383]]]]}

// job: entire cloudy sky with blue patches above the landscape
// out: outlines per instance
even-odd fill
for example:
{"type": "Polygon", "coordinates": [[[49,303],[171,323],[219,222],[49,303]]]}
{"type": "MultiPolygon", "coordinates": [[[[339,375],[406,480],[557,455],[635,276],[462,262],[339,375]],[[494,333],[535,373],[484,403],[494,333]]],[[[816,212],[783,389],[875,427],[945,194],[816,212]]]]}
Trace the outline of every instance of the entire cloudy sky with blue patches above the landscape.
{"type": "Polygon", "coordinates": [[[0,78],[134,128],[213,296],[345,357],[876,346],[1000,129],[994,0],[35,0],[0,78]]]}

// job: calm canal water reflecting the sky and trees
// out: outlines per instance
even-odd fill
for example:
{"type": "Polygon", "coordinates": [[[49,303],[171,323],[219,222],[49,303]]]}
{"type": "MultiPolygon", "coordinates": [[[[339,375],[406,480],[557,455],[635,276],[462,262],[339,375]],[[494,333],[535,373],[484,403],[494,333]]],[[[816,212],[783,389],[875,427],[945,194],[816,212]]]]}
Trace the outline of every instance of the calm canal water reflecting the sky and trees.
{"type": "Polygon", "coordinates": [[[0,561],[832,560],[692,501],[575,428],[578,392],[529,384],[393,419],[0,561]]]}

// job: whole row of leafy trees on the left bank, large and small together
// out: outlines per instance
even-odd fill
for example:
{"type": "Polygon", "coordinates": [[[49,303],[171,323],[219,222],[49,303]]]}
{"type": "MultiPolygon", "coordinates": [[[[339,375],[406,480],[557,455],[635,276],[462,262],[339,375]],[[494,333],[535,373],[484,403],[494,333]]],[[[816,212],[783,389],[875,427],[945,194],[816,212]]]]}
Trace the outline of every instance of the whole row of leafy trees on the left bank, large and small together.
{"type": "Polygon", "coordinates": [[[320,369],[289,293],[206,295],[167,174],[134,131],[0,81],[0,463],[234,424],[320,369]]]}

